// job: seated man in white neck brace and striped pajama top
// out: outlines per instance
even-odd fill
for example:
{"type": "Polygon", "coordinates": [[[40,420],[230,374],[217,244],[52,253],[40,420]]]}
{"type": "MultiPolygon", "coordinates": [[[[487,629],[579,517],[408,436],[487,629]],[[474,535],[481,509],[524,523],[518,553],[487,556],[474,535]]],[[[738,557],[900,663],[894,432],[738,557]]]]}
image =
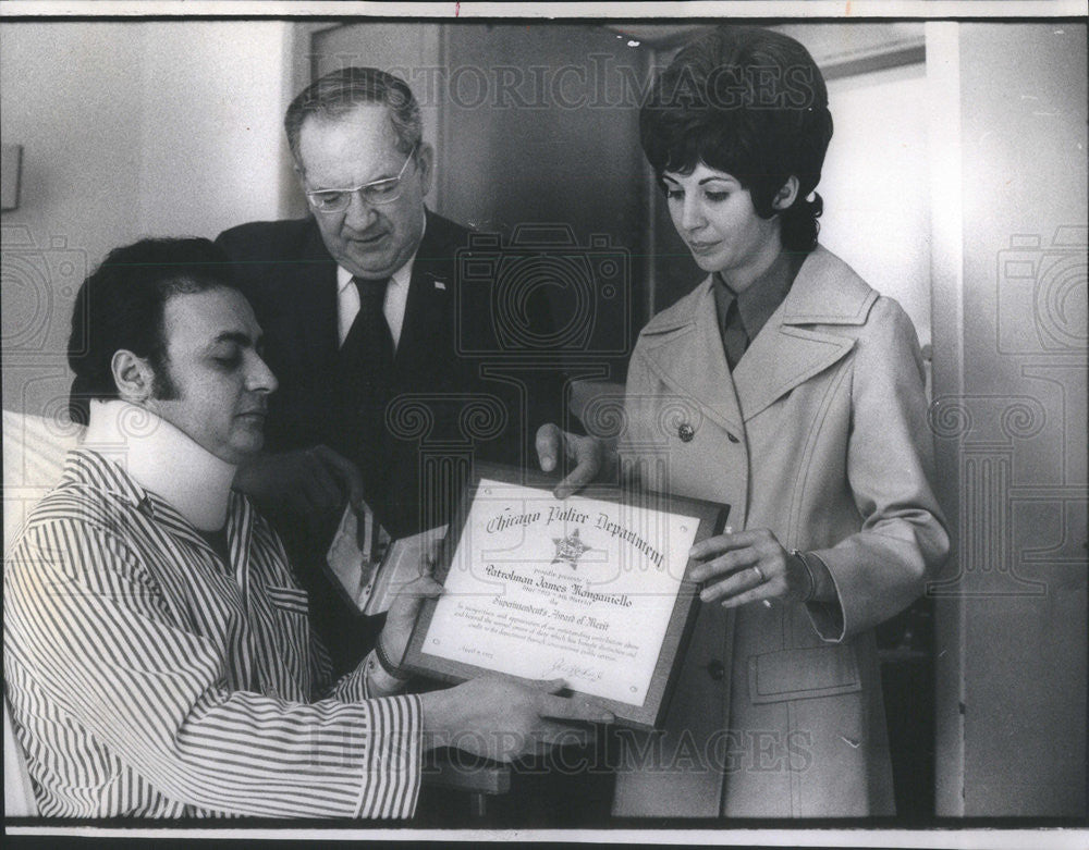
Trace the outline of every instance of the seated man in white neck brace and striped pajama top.
{"type": "Polygon", "coordinates": [[[205,239],[144,241],[76,296],[86,436],[4,565],[5,690],[41,814],[407,817],[429,747],[510,760],[578,740],[565,718],[611,719],[559,681],[400,693],[427,576],[329,680],[279,539],[231,490],[277,381],[229,268],[205,239]]]}

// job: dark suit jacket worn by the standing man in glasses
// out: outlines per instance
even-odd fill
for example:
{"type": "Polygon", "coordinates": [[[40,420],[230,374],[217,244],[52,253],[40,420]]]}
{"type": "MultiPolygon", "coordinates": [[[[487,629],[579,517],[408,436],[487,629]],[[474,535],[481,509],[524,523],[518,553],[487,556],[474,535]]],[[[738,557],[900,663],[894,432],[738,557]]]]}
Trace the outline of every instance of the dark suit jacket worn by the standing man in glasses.
{"type": "MultiPolygon", "coordinates": [[[[337,263],[314,219],[243,224],[217,239],[236,263],[265,332],[266,360],[280,383],[270,399],[266,447],[279,452],[325,443],[355,459],[365,472],[368,504],[394,537],[448,521],[470,457],[536,463],[530,452],[537,427],[560,421],[562,384],[555,370],[505,369],[498,367],[504,360],[510,365],[502,355],[460,354],[458,340],[497,336],[489,294],[480,287],[458,290],[455,254],[466,248],[468,235],[428,211],[380,446],[359,445],[339,414],[337,263]],[[500,368],[506,379],[484,377],[486,367],[500,368]]],[[[328,581],[316,576],[334,526],[321,539],[301,529],[280,530],[294,559],[304,562],[301,572],[310,574],[301,579],[310,590],[316,625],[338,661],[347,663],[365,648],[338,652],[346,605],[338,604],[328,581]],[[340,626],[329,626],[330,618],[340,626]]]]}

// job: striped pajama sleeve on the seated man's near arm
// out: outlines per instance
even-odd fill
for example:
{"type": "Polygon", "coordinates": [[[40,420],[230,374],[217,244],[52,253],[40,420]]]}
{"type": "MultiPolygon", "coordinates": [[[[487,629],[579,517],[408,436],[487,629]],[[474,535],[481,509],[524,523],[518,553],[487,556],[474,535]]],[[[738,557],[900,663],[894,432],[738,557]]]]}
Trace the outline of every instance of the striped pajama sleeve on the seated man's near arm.
{"type": "Polygon", "coordinates": [[[228,689],[225,648],[187,630],[135,547],[103,528],[77,518],[27,528],[5,569],[4,631],[5,665],[85,730],[87,746],[71,748],[85,773],[86,753],[105,750],[162,794],[210,811],[413,813],[418,698],[301,703],[228,689]]]}

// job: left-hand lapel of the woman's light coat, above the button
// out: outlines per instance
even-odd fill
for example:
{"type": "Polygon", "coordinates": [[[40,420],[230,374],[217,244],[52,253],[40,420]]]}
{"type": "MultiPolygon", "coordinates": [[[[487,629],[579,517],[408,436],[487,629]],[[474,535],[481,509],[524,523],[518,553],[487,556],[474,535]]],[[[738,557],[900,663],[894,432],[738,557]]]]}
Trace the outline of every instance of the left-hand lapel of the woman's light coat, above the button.
{"type": "Polygon", "coordinates": [[[741,406],[722,350],[711,279],[644,329],[650,369],[685,402],[696,404],[730,433],[741,434],[741,406]]]}

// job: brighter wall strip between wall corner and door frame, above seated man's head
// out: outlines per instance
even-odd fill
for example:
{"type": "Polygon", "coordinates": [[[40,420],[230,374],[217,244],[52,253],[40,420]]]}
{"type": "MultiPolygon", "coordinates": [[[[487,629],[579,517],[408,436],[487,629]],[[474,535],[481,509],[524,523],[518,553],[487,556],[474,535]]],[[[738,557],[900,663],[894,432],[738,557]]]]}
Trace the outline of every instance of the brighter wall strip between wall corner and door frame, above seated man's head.
{"type": "Polygon", "coordinates": [[[279,214],[290,24],[145,24],[140,225],[215,236],[279,214]]]}

